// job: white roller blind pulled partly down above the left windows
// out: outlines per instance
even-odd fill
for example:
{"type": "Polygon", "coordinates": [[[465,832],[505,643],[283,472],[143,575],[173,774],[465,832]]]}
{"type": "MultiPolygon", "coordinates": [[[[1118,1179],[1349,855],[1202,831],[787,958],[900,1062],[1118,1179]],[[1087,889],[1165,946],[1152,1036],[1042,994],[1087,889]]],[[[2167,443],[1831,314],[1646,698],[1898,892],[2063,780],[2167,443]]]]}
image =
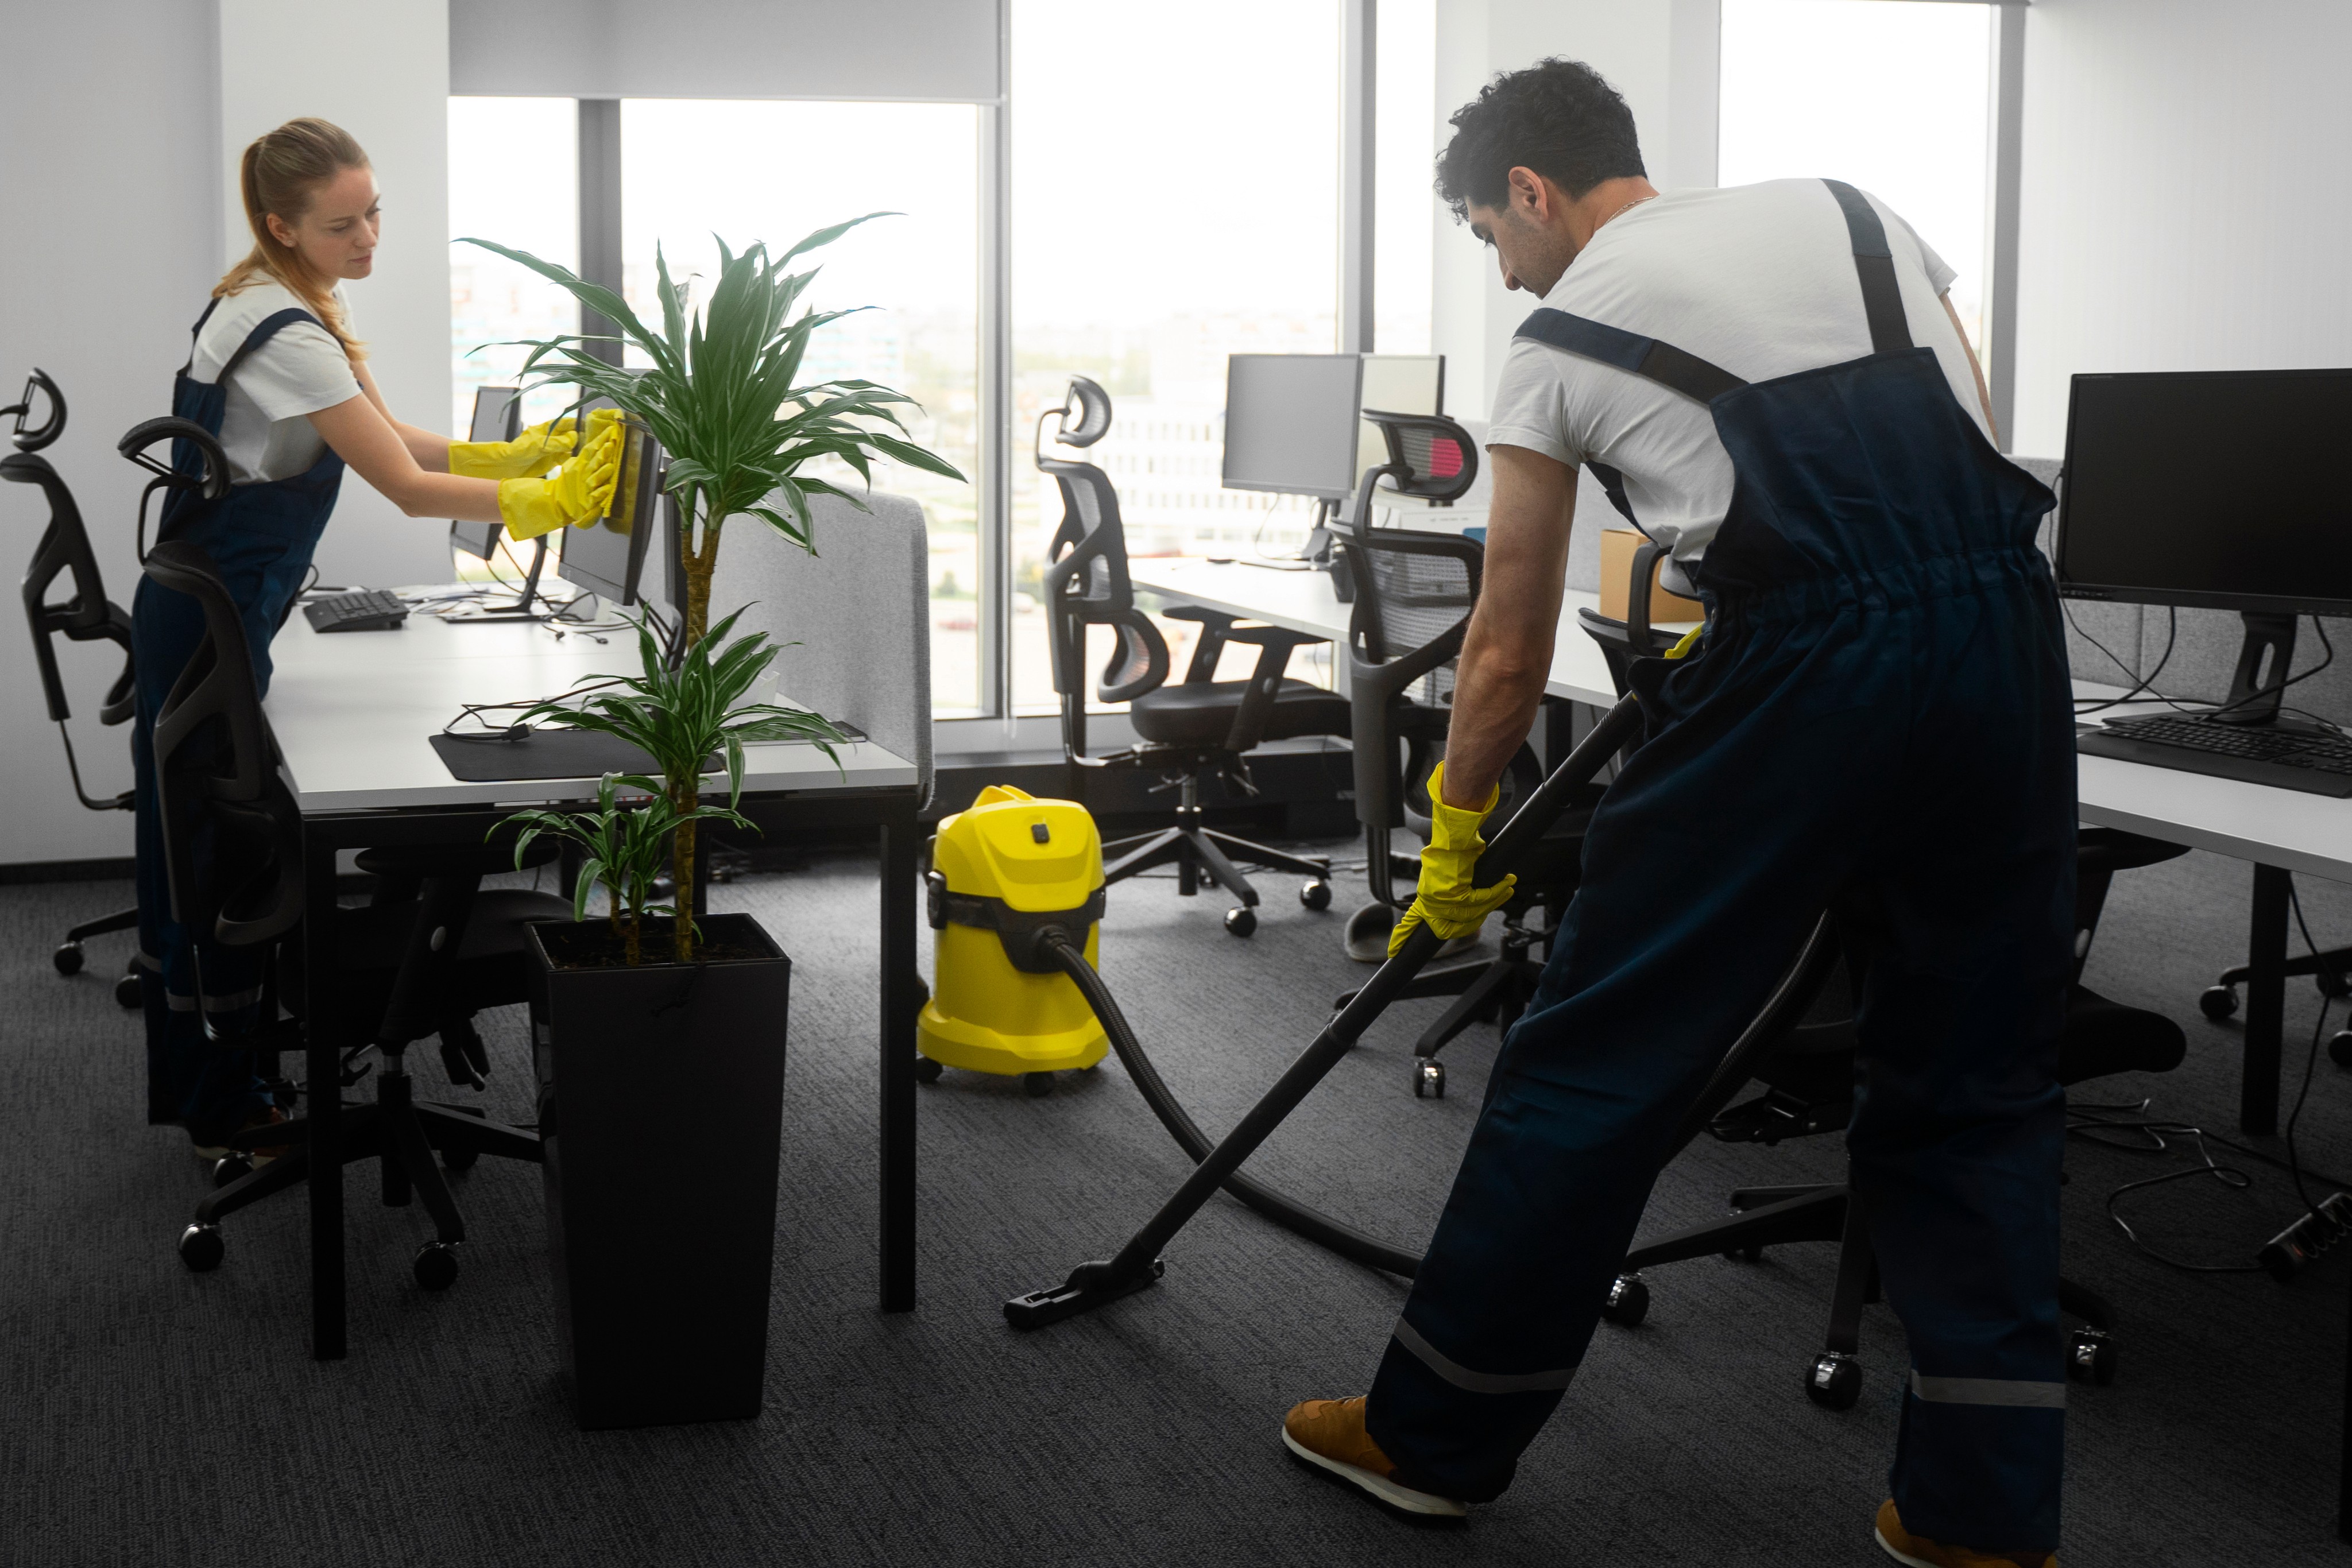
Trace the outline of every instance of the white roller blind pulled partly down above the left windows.
{"type": "Polygon", "coordinates": [[[449,0],[449,92],[1002,96],[1000,0],[449,0]]]}

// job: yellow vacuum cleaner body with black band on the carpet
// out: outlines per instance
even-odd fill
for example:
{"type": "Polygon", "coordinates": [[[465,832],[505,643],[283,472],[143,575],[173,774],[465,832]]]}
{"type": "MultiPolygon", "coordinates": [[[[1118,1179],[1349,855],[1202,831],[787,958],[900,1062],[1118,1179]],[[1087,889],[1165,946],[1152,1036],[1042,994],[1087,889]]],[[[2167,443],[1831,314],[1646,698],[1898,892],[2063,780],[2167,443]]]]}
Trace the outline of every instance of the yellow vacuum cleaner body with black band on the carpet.
{"type": "Polygon", "coordinates": [[[1021,1074],[1033,1095],[1054,1093],[1054,1074],[1094,1067],[1110,1048],[1101,1020],[1040,943],[1058,931],[1087,964],[1103,919],[1103,839],[1087,809],[988,785],[969,811],[938,825],[927,877],[934,964],[931,1001],[915,1023],[922,1060],[941,1067],[1021,1074]]]}

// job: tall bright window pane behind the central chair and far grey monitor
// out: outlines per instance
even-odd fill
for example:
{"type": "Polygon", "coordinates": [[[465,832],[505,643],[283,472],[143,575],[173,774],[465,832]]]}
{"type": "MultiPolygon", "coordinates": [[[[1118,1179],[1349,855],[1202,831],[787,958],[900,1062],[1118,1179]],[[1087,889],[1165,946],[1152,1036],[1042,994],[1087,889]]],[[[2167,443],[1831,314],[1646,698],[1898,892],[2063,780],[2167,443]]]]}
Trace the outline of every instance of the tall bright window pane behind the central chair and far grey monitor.
{"type": "MultiPolygon", "coordinates": [[[[1312,503],[1218,484],[1225,355],[1338,346],[1338,73],[1336,0],[1011,0],[1016,710],[1054,705],[1040,592],[1061,498],[1030,442],[1073,371],[1112,397],[1091,456],[1131,555],[1303,538],[1312,503]]],[[[1200,628],[1160,625],[1183,668],[1200,628]]]]}

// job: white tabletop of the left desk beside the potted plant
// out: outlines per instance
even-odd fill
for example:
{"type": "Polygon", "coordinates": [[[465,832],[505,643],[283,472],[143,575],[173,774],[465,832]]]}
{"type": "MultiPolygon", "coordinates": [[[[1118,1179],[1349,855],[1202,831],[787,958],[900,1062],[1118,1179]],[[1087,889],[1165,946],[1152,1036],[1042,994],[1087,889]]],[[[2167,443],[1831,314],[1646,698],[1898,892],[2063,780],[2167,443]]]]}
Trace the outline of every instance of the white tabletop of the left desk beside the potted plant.
{"type": "MultiPolygon", "coordinates": [[[[463,703],[560,696],[586,675],[635,672],[635,637],[607,637],[597,644],[543,625],[452,625],[433,616],[409,616],[393,632],[320,635],[294,616],[270,644],[268,715],[303,816],[595,799],[595,778],[461,783],[428,736],[463,703]]],[[[835,750],[840,769],[814,745],[748,745],[743,790],[915,783],[915,764],[880,745],[835,750]]]]}

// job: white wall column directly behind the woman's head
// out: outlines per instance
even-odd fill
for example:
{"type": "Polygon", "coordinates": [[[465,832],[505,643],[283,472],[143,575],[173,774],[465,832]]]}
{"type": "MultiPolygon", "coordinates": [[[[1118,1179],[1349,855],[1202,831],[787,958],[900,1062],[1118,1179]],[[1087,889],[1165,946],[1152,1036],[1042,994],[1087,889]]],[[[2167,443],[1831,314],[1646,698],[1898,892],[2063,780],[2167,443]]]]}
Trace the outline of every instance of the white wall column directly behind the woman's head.
{"type": "MultiPolygon", "coordinates": [[[[449,0],[219,0],[221,266],[252,247],[238,158],[299,115],[358,136],[383,188],[376,270],[348,284],[393,414],[449,423],[449,0]]],[[[402,517],[358,475],[343,475],[318,548],[322,583],[437,583],[449,576],[449,524],[402,517]]]]}

